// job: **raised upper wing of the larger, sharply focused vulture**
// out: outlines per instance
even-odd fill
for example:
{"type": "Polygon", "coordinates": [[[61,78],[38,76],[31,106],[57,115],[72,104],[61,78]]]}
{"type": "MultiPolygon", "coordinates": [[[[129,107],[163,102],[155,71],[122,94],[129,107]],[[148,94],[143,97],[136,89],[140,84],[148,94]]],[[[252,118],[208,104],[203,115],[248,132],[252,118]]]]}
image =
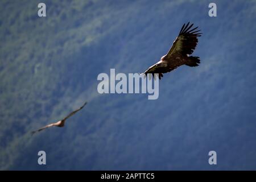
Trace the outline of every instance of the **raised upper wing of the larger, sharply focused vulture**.
{"type": "MultiPolygon", "coordinates": [[[[191,55],[196,48],[198,39],[202,33],[201,30],[197,30],[198,27],[192,28],[193,23],[189,25],[189,22],[181,27],[180,33],[174,40],[170,51],[168,51],[166,58],[170,58],[174,53],[180,53],[181,55],[191,55]],[[192,28],[192,29],[191,29],[192,28]]],[[[171,60],[170,60],[171,61],[171,60]]]]}

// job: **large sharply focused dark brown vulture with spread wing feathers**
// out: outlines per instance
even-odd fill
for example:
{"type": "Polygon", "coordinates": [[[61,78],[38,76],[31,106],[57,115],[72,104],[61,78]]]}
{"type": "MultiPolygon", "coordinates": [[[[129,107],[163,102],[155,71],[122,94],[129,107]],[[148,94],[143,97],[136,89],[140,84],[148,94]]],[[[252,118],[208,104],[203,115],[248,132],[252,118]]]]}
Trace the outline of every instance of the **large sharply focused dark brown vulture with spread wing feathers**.
{"type": "Polygon", "coordinates": [[[192,28],[193,24],[189,25],[189,22],[183,24],[179,35],[174,40],[170,51],[167,55],[161,57],[158,63],[152,65],[147,71],[144,72],[145,76],[148,73],[158,73],[159,79],[163,77],[163,73],[170,72],[175,68],[185,64],[189,67],[197,67],[200,63],[200,58],[196,56],[190,56],[196,48],[198,39],[201,36],[198,27],[192,28]]]}

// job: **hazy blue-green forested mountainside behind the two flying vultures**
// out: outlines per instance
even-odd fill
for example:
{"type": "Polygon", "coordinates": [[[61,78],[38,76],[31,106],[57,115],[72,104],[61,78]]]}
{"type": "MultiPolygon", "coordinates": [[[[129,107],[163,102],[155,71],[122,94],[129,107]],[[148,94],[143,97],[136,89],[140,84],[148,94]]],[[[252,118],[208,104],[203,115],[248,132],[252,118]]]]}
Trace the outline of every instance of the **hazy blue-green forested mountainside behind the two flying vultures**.
{"type": "Polygon", "coordinates": [[[39,2],[0,2],[0,169],[256,169],[256,1],[214,1],[216,18],[212,1],[43,1],[46,18],[39,2]],[[98,94],[99,73],[144,71],[188,21],[199,67],[164,75],[158,100],[98,94]]]}

